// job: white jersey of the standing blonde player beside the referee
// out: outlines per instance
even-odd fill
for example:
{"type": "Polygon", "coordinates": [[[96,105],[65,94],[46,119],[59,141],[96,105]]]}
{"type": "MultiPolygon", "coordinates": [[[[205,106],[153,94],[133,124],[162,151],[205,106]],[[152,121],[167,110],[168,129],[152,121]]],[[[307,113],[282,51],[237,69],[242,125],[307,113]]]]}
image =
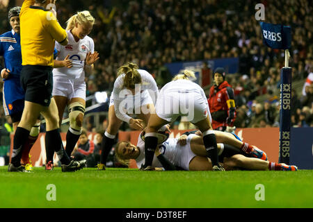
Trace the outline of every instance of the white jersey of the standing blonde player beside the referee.
{"type": "Polygon", "coordinates": [[[73,67],[67,69],[67,67],[56,68],[53,70],[54,76],[66,77],[66,78],[85,78],[85,71],[83,67],[85,65],[85,59],[87,53],[93,53],[95,51],[95,43],[93,39],[89,36],[85,36],[82,40],[76,42],[74,36],[70,31],[66,31],[68,44],[62,46],[60,43],[56,42],[56,50],[58,51],[58,56],[56,60],[64,60],[67,55],[70,55],[70,60],[72,60],[73,67]]]}

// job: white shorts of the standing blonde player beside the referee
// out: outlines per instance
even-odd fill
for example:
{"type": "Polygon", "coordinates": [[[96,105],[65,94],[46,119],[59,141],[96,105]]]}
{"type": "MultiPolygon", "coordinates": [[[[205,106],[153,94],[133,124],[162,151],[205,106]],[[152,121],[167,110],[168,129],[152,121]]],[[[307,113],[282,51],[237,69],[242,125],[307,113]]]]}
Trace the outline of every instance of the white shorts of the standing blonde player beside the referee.
{"type": "Polygon", "coordinates": [[[54,76],[52,96],[65,96],[67,99],[81,98],[86,100],[86,83],[81,80],[54,76]]]}

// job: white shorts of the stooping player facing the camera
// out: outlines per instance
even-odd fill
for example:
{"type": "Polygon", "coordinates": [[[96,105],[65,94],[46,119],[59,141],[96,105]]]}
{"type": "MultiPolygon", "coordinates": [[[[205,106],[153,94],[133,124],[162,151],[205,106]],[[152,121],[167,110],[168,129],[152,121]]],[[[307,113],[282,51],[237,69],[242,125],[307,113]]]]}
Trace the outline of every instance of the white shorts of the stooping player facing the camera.
{"type": "MultiPolygon", "coordinates": [[[[141,106],[147,105],[147,104],[153,104],[152,98],[147,90],[143,90],[140,94],[134,96],[129,95],[125,98],[125,110],[127,110],[127,114],[138,114],[141,113],[141,106]]],[[[114,105],[114,99],[113,99],[113,92],[110,96],[110,104],[114,105]]]]}

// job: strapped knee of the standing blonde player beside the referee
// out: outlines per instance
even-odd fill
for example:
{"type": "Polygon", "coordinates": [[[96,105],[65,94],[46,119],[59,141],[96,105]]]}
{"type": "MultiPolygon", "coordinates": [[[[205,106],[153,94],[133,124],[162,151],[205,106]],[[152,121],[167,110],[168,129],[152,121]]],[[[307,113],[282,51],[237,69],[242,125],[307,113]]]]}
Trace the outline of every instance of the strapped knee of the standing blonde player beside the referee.
{"type": "Polygon", "coordinates": [[[83,115],[85,113],[85,107],[82,103],[71,103],[69,108],[70,129],[72,133],[80,134],[81,126],[83,125],[83,115]]]}

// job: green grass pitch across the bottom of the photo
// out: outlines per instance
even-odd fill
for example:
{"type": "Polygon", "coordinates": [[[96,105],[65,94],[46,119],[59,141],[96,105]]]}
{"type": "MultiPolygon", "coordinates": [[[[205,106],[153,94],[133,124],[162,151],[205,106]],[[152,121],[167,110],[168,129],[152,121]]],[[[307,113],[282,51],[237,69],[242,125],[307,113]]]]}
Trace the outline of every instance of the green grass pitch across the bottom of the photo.
{"type": "MultiPolygon", "coordinates": [[[[313,207],[313,171],[138,171],[57,167],[8,173],[0,167],[0,207],[211,208],[313,207]],[[47,185],[56,200],[47,200],[47,185]],[[264,185],[264,200],[255,196],[264,185]]],[[[49,195],[48,195],[49,196],[49,195]]]]}

